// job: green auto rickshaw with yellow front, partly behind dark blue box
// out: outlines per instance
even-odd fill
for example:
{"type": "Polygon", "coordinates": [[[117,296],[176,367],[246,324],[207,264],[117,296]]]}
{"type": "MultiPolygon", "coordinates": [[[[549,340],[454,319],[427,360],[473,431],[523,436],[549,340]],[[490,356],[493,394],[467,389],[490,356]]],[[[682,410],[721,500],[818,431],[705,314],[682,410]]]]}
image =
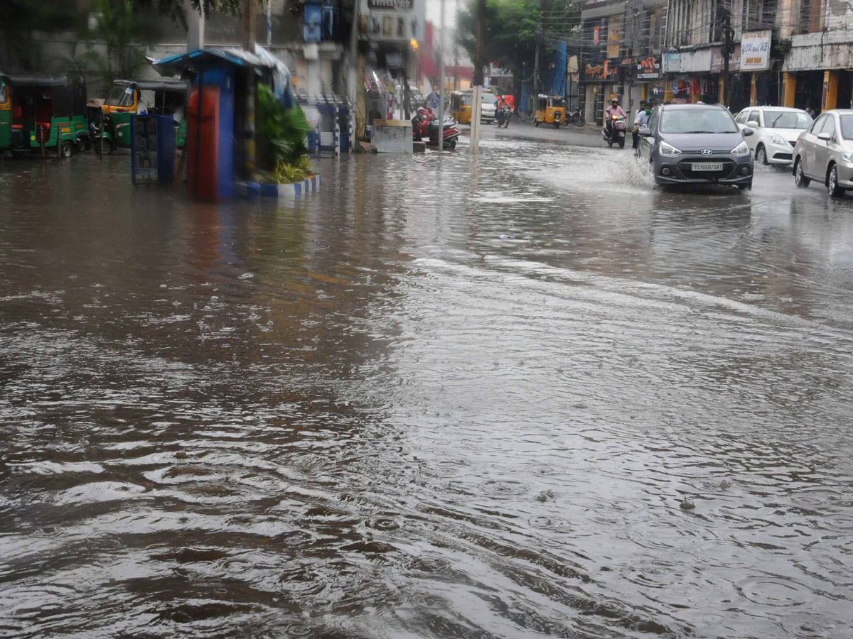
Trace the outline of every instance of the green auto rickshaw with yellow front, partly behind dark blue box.
{"type": "MultiPolygon", "coordinates": [[[[135,113],[167,114],[175,118],[176,147],[187,139],[187,84],[181,80],[114,80],[103,101],[103,150],[131,147],[131,116],[135,113]]],[[[100,129],[93,127],[95,141],[100,129]]]]}

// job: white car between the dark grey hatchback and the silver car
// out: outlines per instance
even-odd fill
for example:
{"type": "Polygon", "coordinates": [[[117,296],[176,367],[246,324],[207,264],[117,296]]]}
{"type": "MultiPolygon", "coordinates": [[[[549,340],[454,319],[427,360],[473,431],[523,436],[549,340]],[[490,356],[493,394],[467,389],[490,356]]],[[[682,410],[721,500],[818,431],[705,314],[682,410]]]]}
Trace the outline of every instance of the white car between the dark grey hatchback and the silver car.
{"type": "Polygon", "coordinates": [[[743,130],[755,131],[746,139],[757,163],[790,165],[794,145],[812,119],[803,109],[789,107],[748,107],[738,113],[734,121],[743,130]]]}

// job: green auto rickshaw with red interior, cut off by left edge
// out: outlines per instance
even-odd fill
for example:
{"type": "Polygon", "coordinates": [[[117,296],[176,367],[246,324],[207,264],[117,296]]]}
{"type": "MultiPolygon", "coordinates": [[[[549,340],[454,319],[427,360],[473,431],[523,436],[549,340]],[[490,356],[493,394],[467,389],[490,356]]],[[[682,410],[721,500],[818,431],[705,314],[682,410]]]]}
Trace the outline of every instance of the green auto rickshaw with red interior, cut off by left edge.
{"type": "Polygon", "coordinates": [[[83,78],[0,73],[0,153],[19,157],[44,147],[68,158],[88,143],[83,78]]]}

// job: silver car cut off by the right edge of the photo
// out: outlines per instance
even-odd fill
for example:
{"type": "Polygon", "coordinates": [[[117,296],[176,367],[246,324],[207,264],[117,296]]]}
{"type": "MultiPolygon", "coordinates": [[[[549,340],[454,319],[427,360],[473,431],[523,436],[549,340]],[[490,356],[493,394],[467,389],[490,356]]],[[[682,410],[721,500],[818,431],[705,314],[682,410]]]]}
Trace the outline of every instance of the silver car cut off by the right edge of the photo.
{"type": "Polygon", "coordinates": [[[798,187],[820,181],[833,198],[853,188],[853,109],[821,113],[815,124],[800,134],[793,156],[798,187]]]}

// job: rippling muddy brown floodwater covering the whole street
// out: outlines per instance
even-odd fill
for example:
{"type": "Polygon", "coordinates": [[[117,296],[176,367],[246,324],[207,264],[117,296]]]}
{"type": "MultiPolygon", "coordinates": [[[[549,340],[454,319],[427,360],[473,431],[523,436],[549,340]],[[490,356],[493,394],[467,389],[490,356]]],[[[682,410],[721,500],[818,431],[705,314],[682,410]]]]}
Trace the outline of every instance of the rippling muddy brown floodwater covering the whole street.
{"type": "Polygon", "coordinates": [[[0,636],[850,636],[853,198],[320,166],[0,162],[0,636]]]}

